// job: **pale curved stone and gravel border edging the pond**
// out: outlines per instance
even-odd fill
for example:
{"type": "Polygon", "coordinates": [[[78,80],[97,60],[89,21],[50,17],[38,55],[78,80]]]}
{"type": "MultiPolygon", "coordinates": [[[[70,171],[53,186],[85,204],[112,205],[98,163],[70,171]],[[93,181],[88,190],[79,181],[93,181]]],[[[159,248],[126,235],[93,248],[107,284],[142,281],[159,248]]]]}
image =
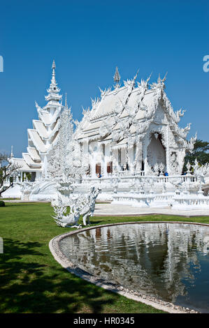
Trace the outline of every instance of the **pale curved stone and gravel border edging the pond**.
{"type": "Polygon", "coordinates": [[[125,296],[129,299],[133,299],[135,301],[140,301],[144,304],[153,306],[154,308],[157,308],[161,311],[165,311],[168,313],[199,313],[197,311],[192,310],[191,308],[185,308],[182,306],[177,306],[175,304],[162,301],[161,299],[157,299],[155,297],[150,297],[147,295],[140,294],[139,292],[135,292],[134,290],[129,290],[127,288],[123,288],[121,285],[116,285],[113,283],[109,283],[108,281],[105,281],[103,279],[99,279],[96,276],[89,274],[87,271],[84,271],[77,267],[75,264],[73,264],[66,256],[62,253],[59,242],[66,238],[71,236],[72,234],[77,234],[82,231],[86,230],[92,230],[95,228],[103,228],[108,227],[111,225],[124,225],[124,224],[144,224],[144,223],[183,223],[183,224],[193,224],[193,225],[205,225],[208,226],[208,224],[204,223],[188,223],[188,222],[178,222],[178,221],[140,221],[140,222],[124,222],[124,223],[110,223],[106,225],[94,225],[92,227],[88,228],[82,228],[79,230],[73,230],[72,232],[66,232],[64,234],[59,234],[57,237],[54,237],[49,242],[49,248],[50,251],[55,258],[55,260],[62,265],[65,269],[67,269],[71,274],[75,274],[75,276],[78,276],[85,281],[88,281],[89,283],[94,283],[94,285],[97,285],[101,288],[104,288],[106,290],[110,290],[111,292],[116,292],[117,294],[120,294],[122,296],[125,296]]]}

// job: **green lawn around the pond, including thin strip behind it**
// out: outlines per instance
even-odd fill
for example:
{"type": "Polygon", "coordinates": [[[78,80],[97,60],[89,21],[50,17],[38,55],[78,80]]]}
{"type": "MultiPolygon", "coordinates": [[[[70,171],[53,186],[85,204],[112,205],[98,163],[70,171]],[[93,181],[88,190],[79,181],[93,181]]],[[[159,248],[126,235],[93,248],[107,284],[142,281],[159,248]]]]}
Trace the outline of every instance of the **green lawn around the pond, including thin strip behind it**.
{"type": "MultiPolygon", "coordinates": [[[[71,228],[55,225],[49,203],[6,203],[0,209],[0,313],[162,313],[98,288],[63,269],[48,243],[71,228]]],[[[94,225],[129,221],[209,223],[209,217],[94,217],[94,225]]]]}

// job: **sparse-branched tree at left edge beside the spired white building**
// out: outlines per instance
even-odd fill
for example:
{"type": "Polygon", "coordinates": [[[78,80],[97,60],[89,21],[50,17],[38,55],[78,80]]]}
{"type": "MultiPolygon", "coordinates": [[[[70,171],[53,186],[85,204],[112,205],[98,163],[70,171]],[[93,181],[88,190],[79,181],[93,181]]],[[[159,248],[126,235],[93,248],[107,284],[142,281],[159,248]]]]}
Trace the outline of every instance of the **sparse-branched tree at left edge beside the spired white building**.
{"type": "Polygon", "coordinates": [[[18,169],[20,169],[20,165],[13,163],[6,154],[0,153],[0,197],[3,191],[13,186],[13,178],[17,174],[18,169]],[[6,180],[9,180],[8,184],[5,184],[6,180]]]}

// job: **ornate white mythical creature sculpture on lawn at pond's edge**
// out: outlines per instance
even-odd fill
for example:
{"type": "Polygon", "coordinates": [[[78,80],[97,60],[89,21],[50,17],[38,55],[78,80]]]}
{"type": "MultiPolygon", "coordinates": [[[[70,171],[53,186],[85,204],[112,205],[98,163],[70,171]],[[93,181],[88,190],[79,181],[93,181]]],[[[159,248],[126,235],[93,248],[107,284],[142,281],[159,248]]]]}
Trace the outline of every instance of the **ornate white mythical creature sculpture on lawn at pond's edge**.
{"type": "Polygon", "coordinates": [[[67,208],[59,197],[58,204],[53,206],[56,215],[52,218],[61,227],[81,228],[81,225],[78,225],[78,220],[82,215],[83,225],[89,225],[89,217],[94,214],[96,197],[100,192],[101,189],[92,187],[87,195],[80,194],[69,197],[71,208],[69,214],[66,214],[67,208]]]}

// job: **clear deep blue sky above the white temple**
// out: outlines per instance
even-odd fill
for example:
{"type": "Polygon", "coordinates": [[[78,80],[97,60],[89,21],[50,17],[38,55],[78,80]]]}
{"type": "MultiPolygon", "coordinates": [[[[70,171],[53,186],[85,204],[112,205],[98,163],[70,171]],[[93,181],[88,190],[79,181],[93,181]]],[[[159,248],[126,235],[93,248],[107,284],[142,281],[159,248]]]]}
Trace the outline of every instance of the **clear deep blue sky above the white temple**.
{"type": "Polygon", "coordinates": [[[1,1],[0,150],[21,156],[27,128],[37,119],[35,100],[45,105],[52,60],[57,82],[68,94],[73,118],[113,84],[115,66],[123,80],[139,68],[138,80],[158,73],[174,110],[187,112],[189,136],[209,141],[209,1],[1,1]]]}

